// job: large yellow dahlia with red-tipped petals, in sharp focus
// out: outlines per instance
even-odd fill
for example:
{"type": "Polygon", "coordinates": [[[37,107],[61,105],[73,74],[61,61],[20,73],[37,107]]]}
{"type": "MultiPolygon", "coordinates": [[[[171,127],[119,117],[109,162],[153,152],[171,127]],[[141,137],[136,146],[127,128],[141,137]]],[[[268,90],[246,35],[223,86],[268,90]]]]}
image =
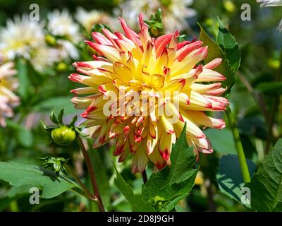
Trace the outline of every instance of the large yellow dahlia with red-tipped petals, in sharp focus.
{"type": "Polygon", "coordinates": [[[226,90],[220,81],[226,78],[213,71],[221,59],[200,64],[207,47],[201,41],[178,42],[179,32],[150,37],[142,14],[139,33],[120,21],[125,35],[107,29],[92,32],[94,42],[85,42],[100,56],[75,62],[80,74],[69,77],[85,85],[71,91],[84,95],[72,102],[85,109],[81,116],[94,131],[94,147],[116,138],[114,155],[119,155],[119,162],[132,155],[133,173],[142,172],[148,162],[161,169],[170,164],[172,143],[186,122],[186,138],[195,154],[212,153],[200,126],[225,126],[222,119],[204,113],[224,111],[228,105],[220,97],[226,90]]]}

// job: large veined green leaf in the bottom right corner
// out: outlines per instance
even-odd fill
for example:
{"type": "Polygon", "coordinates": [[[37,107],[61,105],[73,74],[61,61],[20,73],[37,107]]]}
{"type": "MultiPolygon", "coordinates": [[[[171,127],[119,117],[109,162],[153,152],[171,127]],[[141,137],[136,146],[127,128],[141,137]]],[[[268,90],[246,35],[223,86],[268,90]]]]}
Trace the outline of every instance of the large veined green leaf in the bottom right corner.
{"type": "Polygon", "coordinates": [[[271,149],[250,182],[251,206],[257,211],[282,211],[282,139],[271,149]]]}

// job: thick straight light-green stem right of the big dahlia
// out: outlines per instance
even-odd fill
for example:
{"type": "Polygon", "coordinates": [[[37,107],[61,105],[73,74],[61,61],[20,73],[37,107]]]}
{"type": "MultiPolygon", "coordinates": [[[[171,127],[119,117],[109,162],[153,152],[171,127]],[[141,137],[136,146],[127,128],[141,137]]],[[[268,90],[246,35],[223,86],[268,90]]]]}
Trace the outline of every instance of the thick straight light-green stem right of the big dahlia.
{"type": "Polygon", "coordinates": [[[234,141],[235,141],[235,147],[237,149],[238,159],[239,159],[240,168],[241,168],[241,172],[242,172],[244,182],[245,183],[250,182],[251,181],[250,173],[249,173],[249,169],[247,168],[247,161],[246,161],[245,153],[244,153],[244,150],[243,150],[243,145],[241,143],[239,132],[238,132],[238,129],[237,129],[237,126],[236,126],[236,122],[235,122],[235,119],[233,117],[233,114],[231,112],[230,107],[227,107],[227,109],[226,109],[226,116],[227,116],[227,119],[228,119],[229,124],[231,126],[231,131],[233,133],[233,138],[234,138],[234,141]]]}

